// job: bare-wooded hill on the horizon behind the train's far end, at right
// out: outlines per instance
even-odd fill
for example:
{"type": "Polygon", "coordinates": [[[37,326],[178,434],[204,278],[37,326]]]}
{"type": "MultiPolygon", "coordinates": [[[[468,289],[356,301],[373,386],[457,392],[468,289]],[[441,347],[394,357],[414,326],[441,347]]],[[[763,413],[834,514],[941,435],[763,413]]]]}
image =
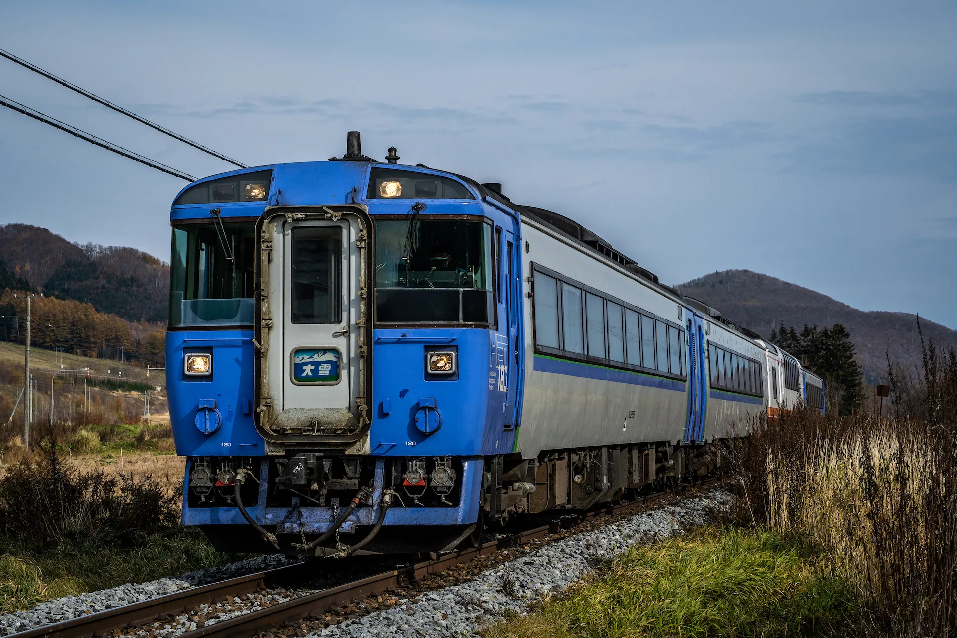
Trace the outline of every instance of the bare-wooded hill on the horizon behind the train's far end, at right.
{"type": "MultiPolygon", "coordinates": [[[[846,303],[768,275],[733,270],[704,275],[677,286],[690,297],[720,310],[724,317],[768,337],[784,323],[798,332],[804,324],[843,324],[851,333],[864,377],[874,382],[887,369],[887,358],[913,371],[921,365],[917,320],[907,313],[862,311],[846,303]]],[[[957,347],[957,332],[921,319],[924,341],[957,347]]]]}

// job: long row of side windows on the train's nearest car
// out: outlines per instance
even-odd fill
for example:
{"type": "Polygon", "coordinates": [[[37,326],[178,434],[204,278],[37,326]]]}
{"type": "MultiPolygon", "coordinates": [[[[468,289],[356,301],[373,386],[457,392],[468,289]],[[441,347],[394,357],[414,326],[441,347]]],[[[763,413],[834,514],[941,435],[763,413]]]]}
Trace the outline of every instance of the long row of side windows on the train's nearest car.
{"type": "Polygon", "coordinates": [[[684,376],[684,331],[535,270],[535,343],[548,354],[684,376]]]}

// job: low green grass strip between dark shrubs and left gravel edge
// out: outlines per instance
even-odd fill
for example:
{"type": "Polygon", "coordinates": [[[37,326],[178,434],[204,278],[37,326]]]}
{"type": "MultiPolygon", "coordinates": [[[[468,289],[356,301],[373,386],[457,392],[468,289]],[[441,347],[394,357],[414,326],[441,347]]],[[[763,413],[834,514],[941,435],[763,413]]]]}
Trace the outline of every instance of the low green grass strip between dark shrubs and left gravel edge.
{"type": "Polygon", "coordinates": [[[24,539],[0,538],[0,612],[122,583],[178,576],[241,556],[220,554],[195,529],[178,528],[119,550],[101,544],[39,550],[24,539]]]}

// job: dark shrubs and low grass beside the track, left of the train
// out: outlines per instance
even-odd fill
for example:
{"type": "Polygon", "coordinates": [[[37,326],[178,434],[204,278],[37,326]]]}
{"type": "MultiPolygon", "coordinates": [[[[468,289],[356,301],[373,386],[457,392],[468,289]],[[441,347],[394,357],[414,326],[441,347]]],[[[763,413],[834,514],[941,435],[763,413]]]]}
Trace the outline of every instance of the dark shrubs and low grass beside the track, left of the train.
{"type": "Polygon", "coordinates": [[[42,452],[0,478],[0,612],[243,558],[179,524],[179,489],[42,452]]]}

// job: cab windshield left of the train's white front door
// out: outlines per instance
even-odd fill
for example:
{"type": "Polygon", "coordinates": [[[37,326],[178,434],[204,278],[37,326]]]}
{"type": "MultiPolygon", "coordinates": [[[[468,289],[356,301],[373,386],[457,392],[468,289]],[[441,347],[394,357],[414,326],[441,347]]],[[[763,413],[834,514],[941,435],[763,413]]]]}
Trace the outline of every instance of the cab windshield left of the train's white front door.
{"type": "Polygon", "coordinates": [[[253,325],[255,222],[173,228],[169,327],[253,325]]]}

